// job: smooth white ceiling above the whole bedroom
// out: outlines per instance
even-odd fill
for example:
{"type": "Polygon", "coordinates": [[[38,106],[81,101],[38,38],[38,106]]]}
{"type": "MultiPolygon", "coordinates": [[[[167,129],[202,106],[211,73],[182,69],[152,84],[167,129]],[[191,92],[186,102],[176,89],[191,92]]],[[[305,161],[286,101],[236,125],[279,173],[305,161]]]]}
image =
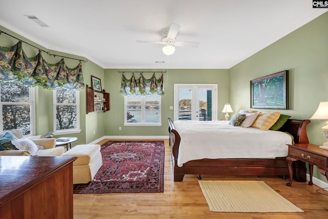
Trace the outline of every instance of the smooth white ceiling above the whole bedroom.
{"type": "Polygon", "coordinates": [[[0,25],[103,68],[224,69],[327,11],[311,0],[1,0],[0,25]],[[160,44],[136,42],[160,41],[171,23],[181,26],[177,41],[199,47],[166,56],[160,44]]]}

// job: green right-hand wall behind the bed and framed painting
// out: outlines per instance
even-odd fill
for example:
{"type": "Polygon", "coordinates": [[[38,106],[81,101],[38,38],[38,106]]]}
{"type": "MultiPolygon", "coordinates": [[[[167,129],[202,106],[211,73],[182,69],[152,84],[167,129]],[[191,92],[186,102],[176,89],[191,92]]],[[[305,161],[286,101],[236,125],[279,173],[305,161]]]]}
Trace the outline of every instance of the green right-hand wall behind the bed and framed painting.
{"type": "MultiPolygon", "coordinates": [[[[278,110],[295,119],[309,119],[319,102],[328,99],[328,12],[281,38],[230,69],[229,96],[235,112],[250,108],[250,81],[289,70],[288,110],[278,110]]],[[[269,111],[269,110],[268,110],[269,111]]],[[[325,121],[308,125],[309,141],[326,142],[321,127],[325,121]]],[[[314,176],[327,182],[319,172],[314,176]]]]}

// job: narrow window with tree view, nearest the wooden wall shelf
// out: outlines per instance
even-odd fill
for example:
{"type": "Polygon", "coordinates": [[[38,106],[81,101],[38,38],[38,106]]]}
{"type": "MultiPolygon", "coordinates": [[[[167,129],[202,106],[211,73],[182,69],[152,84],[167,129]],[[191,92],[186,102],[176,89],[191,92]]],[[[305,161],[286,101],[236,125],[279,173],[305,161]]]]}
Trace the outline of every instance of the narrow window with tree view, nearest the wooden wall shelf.
{"type": "Polygon", "coordinates": [[[53,93],[54,132],[80,132],[79,92],[76,90],[57,88],[53,93]]]}

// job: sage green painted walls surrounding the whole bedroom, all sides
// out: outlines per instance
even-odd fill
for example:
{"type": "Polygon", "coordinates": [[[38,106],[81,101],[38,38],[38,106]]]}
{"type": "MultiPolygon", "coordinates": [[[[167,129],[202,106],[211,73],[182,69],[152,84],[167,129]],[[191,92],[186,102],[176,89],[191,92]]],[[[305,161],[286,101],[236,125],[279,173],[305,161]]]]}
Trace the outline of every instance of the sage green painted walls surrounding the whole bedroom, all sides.
{"type": "MultiPolygon", "coordinates": [[[[168,136],[167,118],[173,117],[173,85],[177,83],[217,83],[218,119],[224,118],[220,109],[230,103],[234,112],[250,108],[251,79],[289,70],[288,110],[279,110],[292,118],[308,119],[316,111],[320,101],[328,98],[328,12],[281,38],[267,48],[257,52],[231,69],[169,69],[164,76],[165,95],[162,96],[162,126],[125,127],[124,96],[119,93],[121,73],[119,71],[161,71],[162,69],[103,69],[88,61],[83,63],[85,84],[91,85],[91,75],[99,77],[103,89],[110,93],[111,110],[86,114],[86,90],[80,90],[80,128],[76,144],[85,144],[106,135],[110,136],[168,136]],[[122,127],[119,131],[118,127],[122,127]],[[95,131],[95,134],[93,134],[95,131]]],[[[0,26],[0,29],[37,47],[39,45],[0,26]]],[[[0,46],[12,46],[17,40],[2,34],[0,46]]],[[[27,55],[36,55],[37,49],[23,44],[27,55]]],[[[40,47],[44,49],[43,47],[40,47]]],[[[44,49],[47,51],[47,49],[44,49]]],[[[58,55],[84,59],[75,55],[50,51],[58,55]]],[[[47,57],[48,62],[58,62],[59,57],[47,57]]],[[[77,61],[65,59],[69,67],[77,61]]],[[[166,70],[166,69],[165,69],[166,70]]],[[[152,73],[145,73],[150,77],[152,73]]],[[[137,74],[136,74],[137,75],[137,74]]],[[[126,73],[129,77],[129,73],[126,73]]],[[[36,134],[52,131],[52,92],[36,88],[36,134]]],[[[233,116],[235,113],[231,113],[233,116]]],[[[326,141],[321,127],[324,121],[313,120],[308,125],[311,143],[322,144],[326,141]]],[[[74,145],[74,144],[73,144],[74,145]]],[[[314,176],[326,182],[318,171],[314,176]]]]}

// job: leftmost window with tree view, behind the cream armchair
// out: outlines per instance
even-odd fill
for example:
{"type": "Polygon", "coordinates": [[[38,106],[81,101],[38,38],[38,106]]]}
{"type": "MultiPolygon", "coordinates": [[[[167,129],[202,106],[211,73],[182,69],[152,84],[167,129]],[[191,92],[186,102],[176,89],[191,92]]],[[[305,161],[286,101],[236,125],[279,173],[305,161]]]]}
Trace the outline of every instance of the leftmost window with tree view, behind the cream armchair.
{"type": "Polygon", "coordinates": [[[34,134],[34,88],[19,82],[0,83],[1,130],[21,129],[24,135],[34,134]]]}

